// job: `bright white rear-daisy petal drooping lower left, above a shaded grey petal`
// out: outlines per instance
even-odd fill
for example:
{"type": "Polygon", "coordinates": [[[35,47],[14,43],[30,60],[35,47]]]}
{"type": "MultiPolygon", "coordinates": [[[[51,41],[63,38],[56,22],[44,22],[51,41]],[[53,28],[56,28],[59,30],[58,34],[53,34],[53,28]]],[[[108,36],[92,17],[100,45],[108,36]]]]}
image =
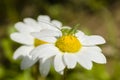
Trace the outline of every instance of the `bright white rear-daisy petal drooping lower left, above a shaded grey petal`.
{"type": "Polygon", "coordinates": [[[33,48],[34,48],[33,46],[21,46],[15,51],[13,58],[18,59],[27,56],[29,55],[30,51],[32,51],[33,48]]]}

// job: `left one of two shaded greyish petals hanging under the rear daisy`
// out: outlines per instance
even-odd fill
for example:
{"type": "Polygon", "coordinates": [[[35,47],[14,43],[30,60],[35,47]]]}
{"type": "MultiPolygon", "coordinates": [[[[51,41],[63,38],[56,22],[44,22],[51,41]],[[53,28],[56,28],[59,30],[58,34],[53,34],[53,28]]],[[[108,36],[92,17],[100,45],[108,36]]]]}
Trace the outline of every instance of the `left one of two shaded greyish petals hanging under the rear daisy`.
{"type": "Polygon", "coordinates": [[[32,57],[30,56],[25,56],[21,62],[21,69],[27,69],[31,67],[33,64],[35,64],[37,61],[38,59],[32,59],[32,57]]]}

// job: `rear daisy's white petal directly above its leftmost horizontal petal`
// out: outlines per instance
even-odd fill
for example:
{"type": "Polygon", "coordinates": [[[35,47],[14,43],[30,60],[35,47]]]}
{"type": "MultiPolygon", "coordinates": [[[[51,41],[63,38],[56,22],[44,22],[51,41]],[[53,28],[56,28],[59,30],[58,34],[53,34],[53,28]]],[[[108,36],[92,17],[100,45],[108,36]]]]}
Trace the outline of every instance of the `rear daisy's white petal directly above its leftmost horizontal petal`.
{"type": "Polygon", "coordinates": [[[22,23],[22,22],[18,22],[15,24],[15,28],[22,33],[30,33],[30,32],[34,32],[34,29],[31,28],[30,26],[22,23]]]}

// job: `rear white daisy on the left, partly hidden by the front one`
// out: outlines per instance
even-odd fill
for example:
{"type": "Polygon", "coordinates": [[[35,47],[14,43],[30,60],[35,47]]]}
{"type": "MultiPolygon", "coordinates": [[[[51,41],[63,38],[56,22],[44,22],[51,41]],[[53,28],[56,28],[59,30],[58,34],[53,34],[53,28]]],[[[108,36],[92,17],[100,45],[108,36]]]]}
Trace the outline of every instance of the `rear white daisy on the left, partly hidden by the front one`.
{"type": "MultiPolygon", "coordinates": [[[[24,22],[18,22],[15,24],[15,28],[18,32],[12,33],[10,35],[13,41],[16,41],[22,44],[13,55],[14,59],[22,58],[21,62],[21,69],[26,69],[31,67],[35,64],[38,60],[40,62],[40,73],[43,76],[46,76],[50,69],[50,60],[46,60],[42,62],[41,59],[33,59],[32,56],[29,54],[35,47],[40,46],[42,44],[47,44],[49,41],[54,41],[54,37],[44,37],[45,41],[39,40],[31,35],[32,32],[42,32],[49,30],[58,31],[57,27],[59,28],[61,23],[57,20],[50,20],[49,16],[41,15],[38,17],[38,21],[35,21],[31,18],[25,18],[24,22]],[[51,24],[51,25],[50,25],[51,24]],[[54,27],[54,26],[56,27],[54,27]],[[48,67],[47,67],[48,66],[48,67]]],[[[42,53],[43,54],[43,53],[42,53]]]]}

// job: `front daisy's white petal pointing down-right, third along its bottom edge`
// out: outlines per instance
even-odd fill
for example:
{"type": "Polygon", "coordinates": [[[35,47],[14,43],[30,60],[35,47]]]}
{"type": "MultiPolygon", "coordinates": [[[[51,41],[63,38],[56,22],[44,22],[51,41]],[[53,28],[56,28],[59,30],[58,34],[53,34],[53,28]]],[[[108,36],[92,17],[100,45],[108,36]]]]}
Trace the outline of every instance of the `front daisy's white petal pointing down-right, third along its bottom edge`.
{"type": "Polygon", "coordinates": [[[78,63],[83,66],[84,68],[90,70],[92,68],[92,62],[87,56],[85,55],[79,55],[78,56],[78,63]]]}

